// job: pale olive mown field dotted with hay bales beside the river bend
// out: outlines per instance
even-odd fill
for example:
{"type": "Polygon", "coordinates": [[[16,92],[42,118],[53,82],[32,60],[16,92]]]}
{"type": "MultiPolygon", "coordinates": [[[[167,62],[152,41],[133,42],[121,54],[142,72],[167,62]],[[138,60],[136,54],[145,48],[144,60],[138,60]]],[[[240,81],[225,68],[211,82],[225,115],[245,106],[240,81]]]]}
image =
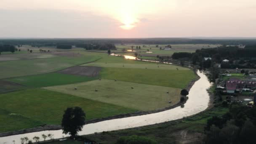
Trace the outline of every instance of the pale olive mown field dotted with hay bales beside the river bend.
{"type": "Polygon", "coordinates": [[[180,88],[104,79],[46,87],[45,89],[141,111],[155,110],[176,104],[179,102],[181,91],[180,88]],[[77,90],[74,89],[75,87],[77,90]],[[95,89],[98,91],[96,92],[95,89]],[[172,104],[168,103],[169,100],[172,101],[172,104]]]}

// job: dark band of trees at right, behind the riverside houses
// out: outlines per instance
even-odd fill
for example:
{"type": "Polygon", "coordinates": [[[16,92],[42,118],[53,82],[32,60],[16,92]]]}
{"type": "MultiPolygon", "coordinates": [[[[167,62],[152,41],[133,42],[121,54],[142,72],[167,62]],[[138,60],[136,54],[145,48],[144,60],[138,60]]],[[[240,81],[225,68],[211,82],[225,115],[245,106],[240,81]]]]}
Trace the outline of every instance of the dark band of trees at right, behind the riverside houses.
{"type": "Polygon", "coordinates": [[[221,68],[256,68],[256,48],[238,48],[221,46],[218,48],[202,48],[195,53],[173,53],[173,59],[189,59],[192,64],[199,63],[202,68],[213,64],[221,64],[221,68]],[[211,58],[211,59],[204,59],[211,58]],[[222,61],[227,59],[228,61],[222,61]]]}

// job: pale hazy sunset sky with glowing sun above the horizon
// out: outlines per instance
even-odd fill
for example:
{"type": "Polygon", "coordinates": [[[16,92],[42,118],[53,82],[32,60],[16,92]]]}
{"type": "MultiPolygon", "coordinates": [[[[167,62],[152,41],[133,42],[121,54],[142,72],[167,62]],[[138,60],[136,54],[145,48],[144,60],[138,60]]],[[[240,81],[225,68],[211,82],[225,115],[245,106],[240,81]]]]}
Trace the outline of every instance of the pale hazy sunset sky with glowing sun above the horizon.
{"type": "Polygon", "coordinates": [[[0,0],[0,37],[256,37],[256,0],[0,0]]]}

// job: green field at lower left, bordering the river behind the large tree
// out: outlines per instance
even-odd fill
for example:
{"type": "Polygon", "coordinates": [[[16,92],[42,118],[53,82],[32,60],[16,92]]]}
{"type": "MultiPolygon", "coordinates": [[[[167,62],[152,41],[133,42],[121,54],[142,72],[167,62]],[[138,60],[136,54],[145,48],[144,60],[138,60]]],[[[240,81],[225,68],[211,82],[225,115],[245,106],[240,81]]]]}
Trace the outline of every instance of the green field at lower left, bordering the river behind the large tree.
{"type": "Polygon", "coordinates": [[[39,88],[3,93],[0,99],[0,132],[60,124],[67,107],[81,107],[86,120],[137,111],[39,88]]]}

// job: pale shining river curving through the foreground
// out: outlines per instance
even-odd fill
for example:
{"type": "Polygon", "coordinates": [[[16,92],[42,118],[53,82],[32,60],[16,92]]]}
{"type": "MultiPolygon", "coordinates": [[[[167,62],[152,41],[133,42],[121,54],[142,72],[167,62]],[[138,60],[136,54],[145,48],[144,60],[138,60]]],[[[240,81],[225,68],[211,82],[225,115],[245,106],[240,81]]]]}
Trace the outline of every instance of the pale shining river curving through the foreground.
{"type": "MultiPolygon", "coordinates": [[[[157,112],[148,115],[140,115],[134,117],[125,117],[120,119],[105,120],[98,123],[90,123],[84,125],[83,130],[79,132],[79,135],[87,135],[91,133],[99,133],[103,131],[114,131],[125,128],[135,128],[144,125],[152,125],[156,123],[163,123],[166,121],[177,120],[183,117],[195,115],[198,112],[202,112],[207,109],[209,104],[209,94],[207,89],[211,86],[208,78],[203,72],[197,71],[197,75],[200,79],[195,82],[189,91],[189,99],[184,104],[184,107],[176,107],[163,112],[157,112]]],[[[13,144],[13,140],[16,144],[20,143],[20,138],[27,136],[30,140],[34,136],[39,136],[40,140],[43,141],[42,134],[54,134],[54,139],[66,137],[62,134],[62,130],[57,131],[40,131],[33,133],[25,133],[13,136],[0,137],[0,144],[13,144]]]]}

